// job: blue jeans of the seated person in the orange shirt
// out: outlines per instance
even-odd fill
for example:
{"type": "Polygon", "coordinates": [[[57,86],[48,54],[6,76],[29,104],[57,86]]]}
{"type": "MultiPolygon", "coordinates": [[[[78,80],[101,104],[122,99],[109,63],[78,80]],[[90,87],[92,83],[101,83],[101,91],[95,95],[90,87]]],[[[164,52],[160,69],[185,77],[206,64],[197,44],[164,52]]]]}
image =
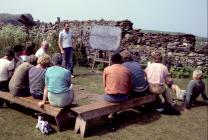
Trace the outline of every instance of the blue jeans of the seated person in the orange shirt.
{"type": "Polygon", "coordinates": [[[128,94],[105,94],[104,99],[111,103],[121,103],[128,100],[128,94]]]}

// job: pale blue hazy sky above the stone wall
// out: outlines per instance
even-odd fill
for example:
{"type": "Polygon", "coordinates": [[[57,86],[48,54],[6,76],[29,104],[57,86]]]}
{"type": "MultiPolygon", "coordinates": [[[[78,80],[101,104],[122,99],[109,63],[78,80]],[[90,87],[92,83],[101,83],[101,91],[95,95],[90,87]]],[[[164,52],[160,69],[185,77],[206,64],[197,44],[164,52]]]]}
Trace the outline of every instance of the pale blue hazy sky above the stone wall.
{"type": "Polygon", "coordinates": [[[134,28],[208,37],[207,0],[0,0],[0,13],[31,13],[35,20],[123,20],[134,28]]]}

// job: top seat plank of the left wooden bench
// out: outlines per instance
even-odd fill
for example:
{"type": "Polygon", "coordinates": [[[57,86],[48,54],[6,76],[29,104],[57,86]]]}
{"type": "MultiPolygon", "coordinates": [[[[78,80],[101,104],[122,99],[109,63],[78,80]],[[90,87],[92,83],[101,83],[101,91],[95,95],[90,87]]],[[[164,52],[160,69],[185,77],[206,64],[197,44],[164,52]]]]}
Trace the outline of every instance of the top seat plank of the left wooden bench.
{"type": "Polygon", "coordinates": [[[48,114],[48,115],[54,116],[54,117],[56,117],[63,109],[63,108],[53,107],[50,104],[45,104],[43,108],[40,108],[38,106],[38,102],[40,102],[40,100],[34,99],[31,96],[29,96],[29,97],[16,97],[16,96],[13,96],[9,92],[0,92],[0,98],[3,98],[5,100],[11,101],[13,103],[17,103],[22,106],[31,108],[33,110],[37,110],[39,112],[43,112],[45,114],[48,114]]]}

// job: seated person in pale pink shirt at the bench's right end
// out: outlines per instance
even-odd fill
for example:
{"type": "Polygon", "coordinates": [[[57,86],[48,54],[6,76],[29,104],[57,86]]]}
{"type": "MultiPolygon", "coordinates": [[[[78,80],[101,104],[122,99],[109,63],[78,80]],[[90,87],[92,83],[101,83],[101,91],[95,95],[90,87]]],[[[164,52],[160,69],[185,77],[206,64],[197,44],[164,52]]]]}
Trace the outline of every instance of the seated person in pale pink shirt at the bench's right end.
{"type": "Polygon", "coordinates": [[[146,77],[149,82],[149,92],[154,94],[162,94],[165,104],[173,106],[174,102],[170,93],[165,87],[166,80],[170,74],[168,68],[162,64],[161,52],[157,51],[153,54],[153,63],[149,64],[146,69],[146,77]]]}

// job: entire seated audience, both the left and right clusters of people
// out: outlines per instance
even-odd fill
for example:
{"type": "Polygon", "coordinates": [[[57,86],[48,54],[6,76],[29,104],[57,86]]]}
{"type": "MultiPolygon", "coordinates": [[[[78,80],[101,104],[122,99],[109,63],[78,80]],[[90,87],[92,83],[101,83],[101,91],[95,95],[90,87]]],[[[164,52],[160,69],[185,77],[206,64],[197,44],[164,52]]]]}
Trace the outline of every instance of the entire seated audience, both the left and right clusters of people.
{"type": "MultiPolygon", "coordinates": [[[[47,55],[47,41],[42,42],[36,53],[34,43],[29,43],[26,48],[24,52],[23,46],[16,45],[0,59],[0,91],[9,91],[14,96],[32,95],[40,99],[40,107],[44,106],[47,99],[53,106],[70,105],[74,99],[71,73],[62,67],[62,55],[47,55]]],[[[161,52],[156,51],[152,57],[153,63],[143,70],[138,62],[133,61],[130,52],[113,54],[111,66],[103,72],[104,99],[120,103],[127,101],[129,95],[138,97],[153,93],[162,95],[164,104],[174,106],[167,86],[176,90],[180,88],[173,84],[167,67],[162,63],[161,52]]],[[[202,77],[201,70],[194,71],[193,80],[183,94],[185,109],[191,107],[199,94],[207,102],[202,77]]]]}

